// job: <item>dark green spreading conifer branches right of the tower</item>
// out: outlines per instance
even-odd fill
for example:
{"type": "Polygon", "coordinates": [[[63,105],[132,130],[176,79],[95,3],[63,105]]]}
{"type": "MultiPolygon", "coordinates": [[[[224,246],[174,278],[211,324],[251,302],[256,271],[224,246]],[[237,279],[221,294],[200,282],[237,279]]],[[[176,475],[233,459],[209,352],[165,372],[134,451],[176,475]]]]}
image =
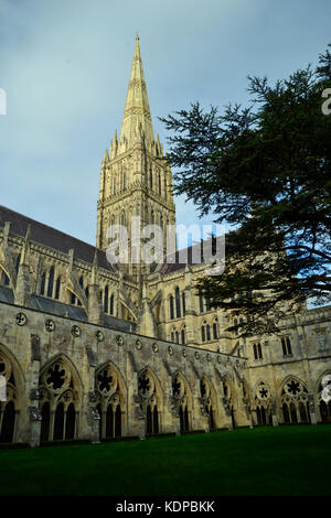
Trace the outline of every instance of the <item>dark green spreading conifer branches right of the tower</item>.
{"type": "Polygon", "coordinates": [[[172,131],[174,193],[233,225],[224,273],[197,290],[241,316],[242,336],[274,333],[307,299],[331,300],[331,116],[321,109],[330,87],[327,50],[316,69],[275,85],[248,76],[247,108],[218,115],[196,102],[160,119],[172,131]]]}

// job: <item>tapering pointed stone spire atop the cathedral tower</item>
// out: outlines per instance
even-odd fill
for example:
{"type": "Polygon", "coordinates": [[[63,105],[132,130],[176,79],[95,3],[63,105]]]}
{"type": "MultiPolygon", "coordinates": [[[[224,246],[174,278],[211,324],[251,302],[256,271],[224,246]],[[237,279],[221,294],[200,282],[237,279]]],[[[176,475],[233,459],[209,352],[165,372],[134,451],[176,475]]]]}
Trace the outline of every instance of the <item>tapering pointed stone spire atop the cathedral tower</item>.
{"type": "Polygon", "coordinates": [[[139,122],[146,141],[151,143],[154,140],[154,134],[142,69],[139,36],[137,35],[130,82],[120,130],[120,142],[124,139],[126,139],[129,145],[134,142],[139,122]]]}

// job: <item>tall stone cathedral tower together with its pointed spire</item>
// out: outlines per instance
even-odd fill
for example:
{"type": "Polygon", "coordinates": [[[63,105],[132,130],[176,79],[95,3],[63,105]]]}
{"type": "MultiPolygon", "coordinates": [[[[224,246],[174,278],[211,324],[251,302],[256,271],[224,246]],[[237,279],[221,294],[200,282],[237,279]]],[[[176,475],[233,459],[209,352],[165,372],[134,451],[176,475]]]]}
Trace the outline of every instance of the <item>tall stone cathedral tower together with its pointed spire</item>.
{"type": "MultiPolygon", "coordinates": [[[[135,253],[132,217],[140,218],[141,227],[158,224],[163,231],[167,225],[175,225],[172,175],[163,159],[159,136],[154,139],[137,36],[120,136],[118,138],[115,130],[109,152],[105,151],[102,162],[96,237],[96,246],[106,250],[107,228],[114,224],[127,227],[131,274],[135,273],[130,265],[135,253]]],[[[166,248],[164,239],[163,255],[166,248]]]]}

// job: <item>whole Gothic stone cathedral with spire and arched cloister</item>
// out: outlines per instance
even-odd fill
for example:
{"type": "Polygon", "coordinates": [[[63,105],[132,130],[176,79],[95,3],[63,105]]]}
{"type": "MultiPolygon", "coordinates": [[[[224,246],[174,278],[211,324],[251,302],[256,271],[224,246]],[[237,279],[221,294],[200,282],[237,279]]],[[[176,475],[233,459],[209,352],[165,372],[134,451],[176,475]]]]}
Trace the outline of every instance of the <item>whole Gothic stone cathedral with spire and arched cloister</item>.
{"type": "Polygon", "coordinates": [[[288,314],[274,336],[229,333],[239,315],[196,293],[207,265],[169,260],[174,225],[137,36],[120,133],[100,166],[96,246],[0,206],[0,443],[331,421],[331,306],[288,314]],[[132,260],[135,218],[167,235],[158,268],[132,260]],[[107,252],[117,225],[128,228],[124,262],[107,252]]]}

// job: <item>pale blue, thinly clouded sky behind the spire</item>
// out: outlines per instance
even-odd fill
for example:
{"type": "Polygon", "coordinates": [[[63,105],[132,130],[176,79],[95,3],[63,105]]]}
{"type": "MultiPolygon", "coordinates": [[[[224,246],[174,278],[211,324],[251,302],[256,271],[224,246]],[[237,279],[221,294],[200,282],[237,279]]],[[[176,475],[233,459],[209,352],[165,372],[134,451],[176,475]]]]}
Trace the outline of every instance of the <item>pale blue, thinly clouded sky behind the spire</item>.
{"type": "MultiPolygon", "coordinates": [[[[330,0],[0,0],[0,204],[95,244],[100,163],[120,130],[138,32],[158,117],[248,101],[331,42],[330,0]]],[[[179,224],[211,223],[184,196],[179,224]]]]}

